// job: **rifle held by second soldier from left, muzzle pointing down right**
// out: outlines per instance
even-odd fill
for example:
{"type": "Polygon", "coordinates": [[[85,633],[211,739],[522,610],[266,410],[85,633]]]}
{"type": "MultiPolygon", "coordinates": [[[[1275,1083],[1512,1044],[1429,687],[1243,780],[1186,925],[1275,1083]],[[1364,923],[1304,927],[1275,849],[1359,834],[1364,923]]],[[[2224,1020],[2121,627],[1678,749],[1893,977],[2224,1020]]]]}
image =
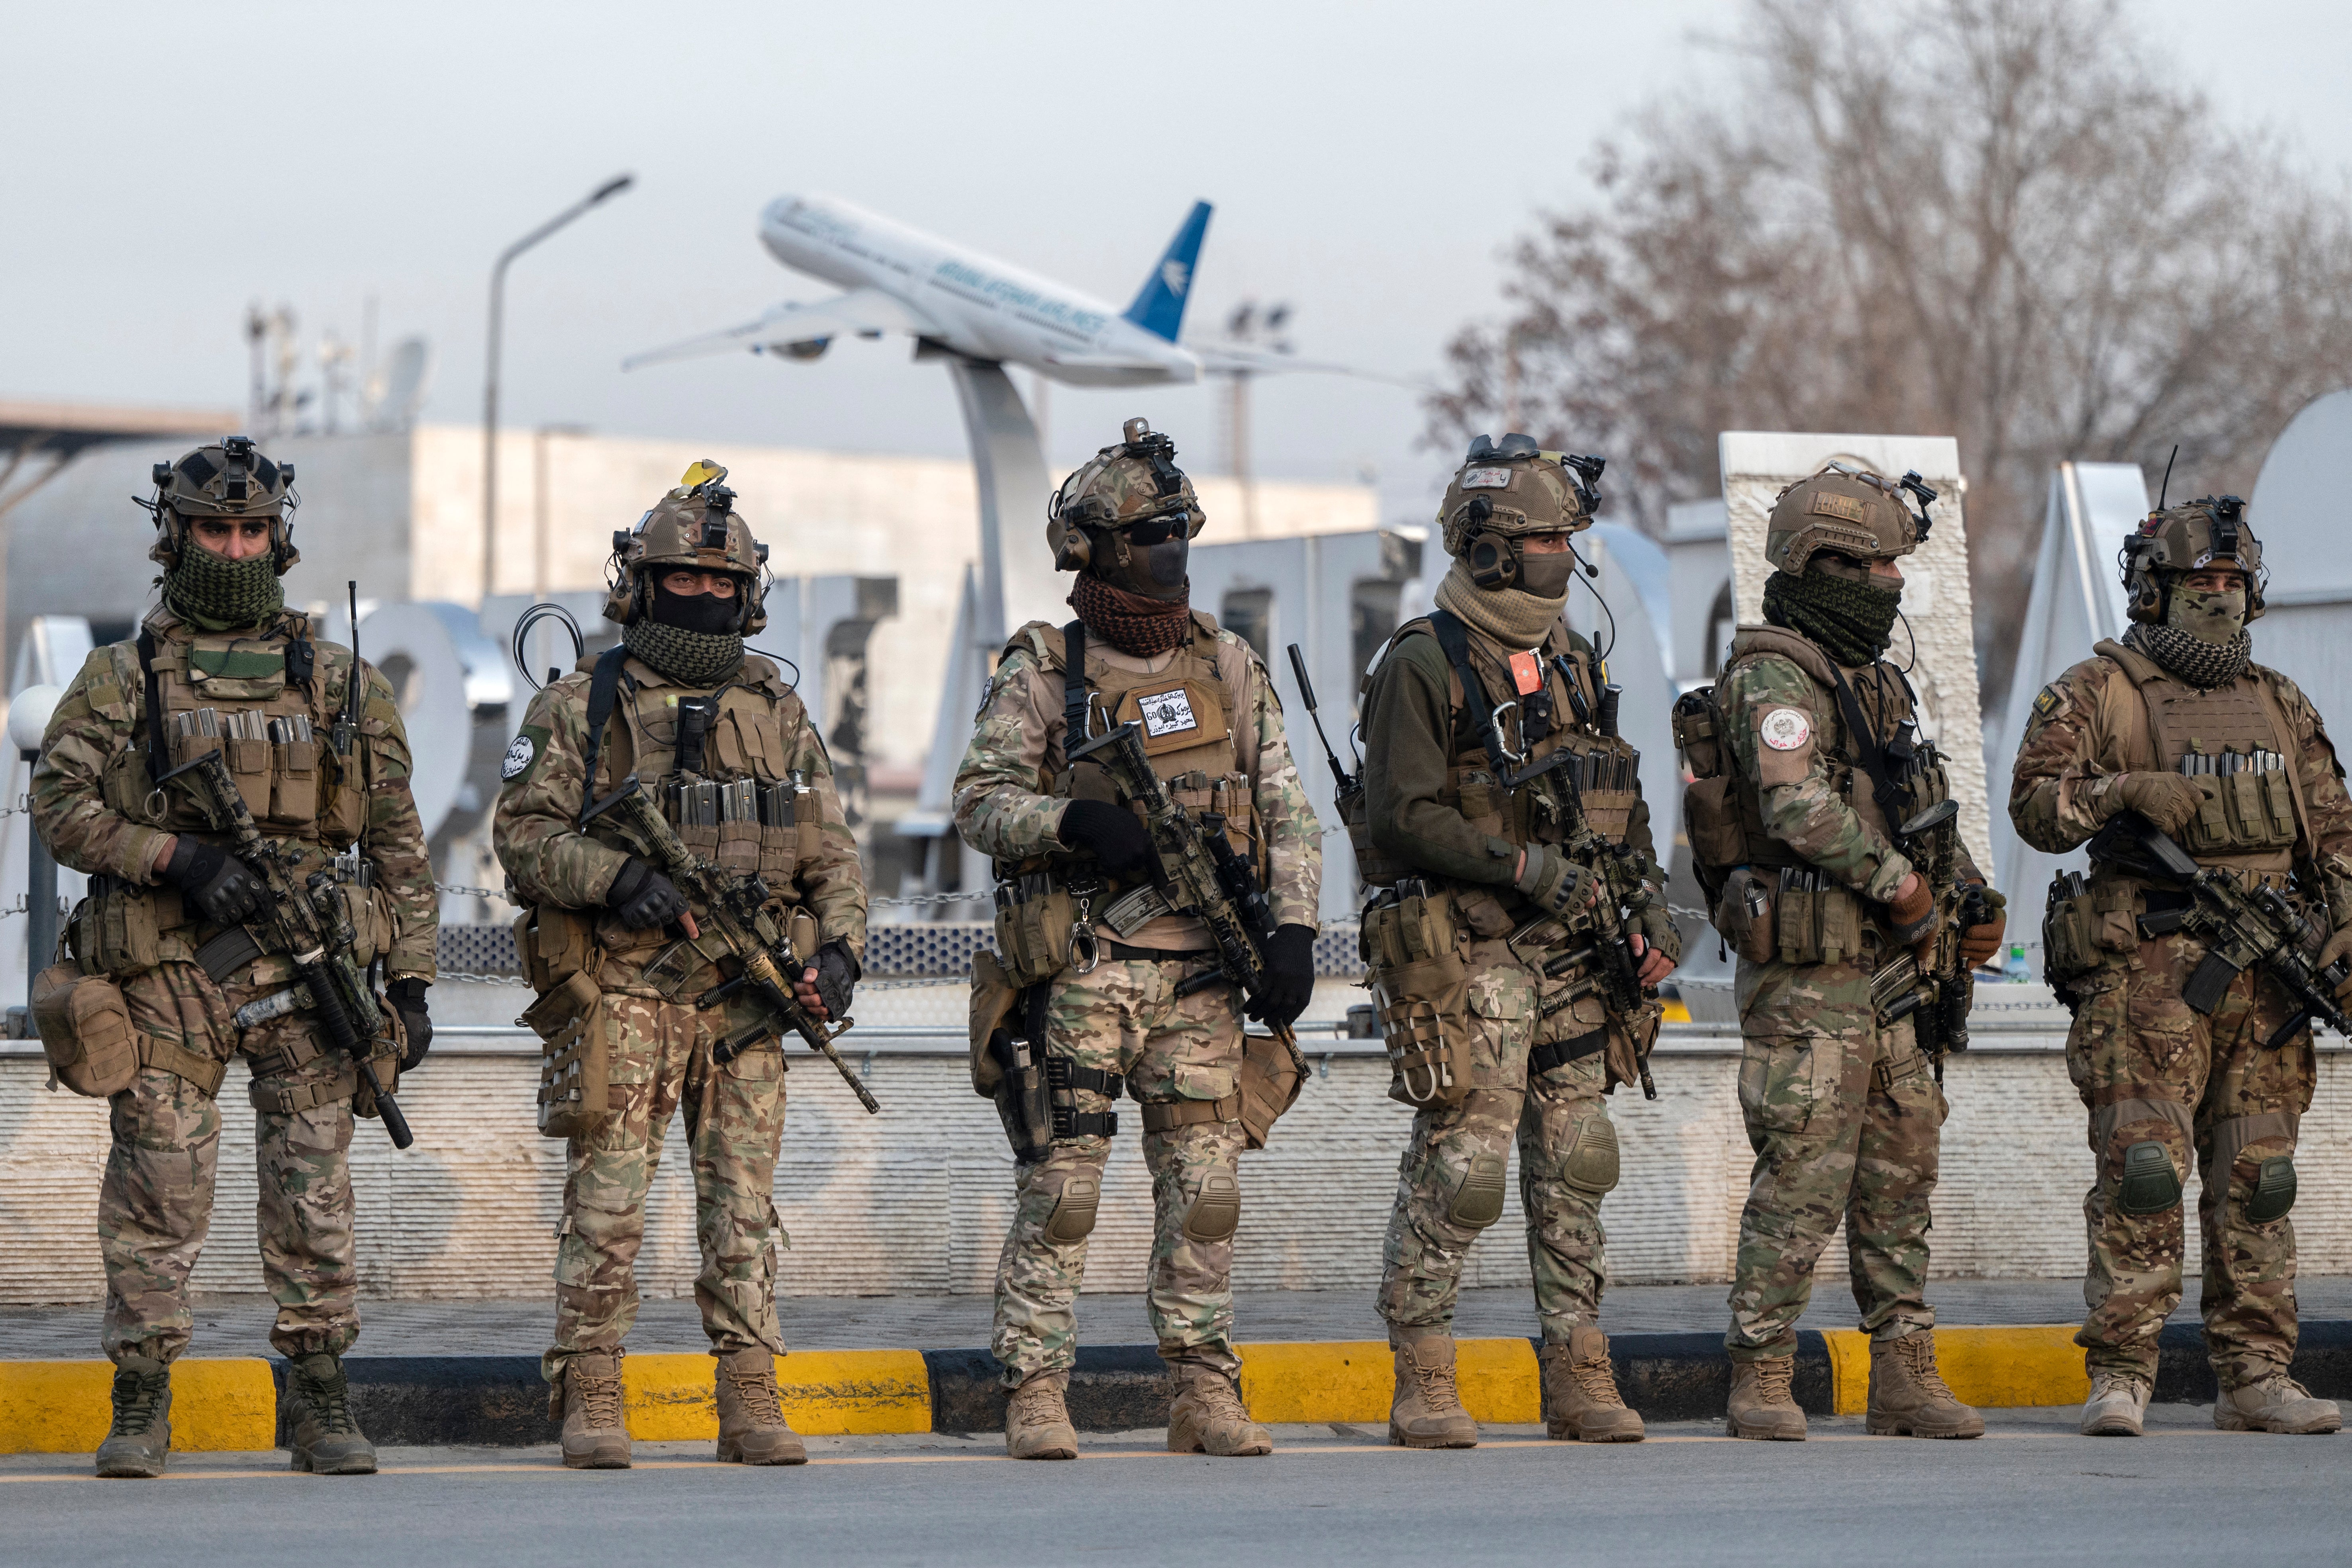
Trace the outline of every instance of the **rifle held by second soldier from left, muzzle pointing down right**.
{"type": "MultiPolygon", "coordinates": [[[[696,997],[694,1006],[713,1009],[727,1001],[727,997],[750,992],[750,999],[764,1013],[760,1023],[746,1025],[713,1046],[710,1060],[731,1063],[748,1046],[790,1030],[809,1041],[811,1051],[823,1053],[833,1063],[868,1114],[880,1114],[882,1105],[873,1098],[873,1091],[849,1070],[842,1053],[833,1048],[833,1041],[849,1032],[851,1020],[842,1018],[828,1030],[826,1020],[804,1009],[800,997],[793,994],[793,980],[807,969],[807,959],[793,952],[793,936],[776,919],[774,910],[769,910],[774,893],[767,882],[757,875],[729,875],[699,858],[677,837],[677,830],[670,827],[670,818],[661,816],[661,809],[637,788],[635,778],[623,780],[619,790],[588,806],[581,823],[593,823],[607,811],[614,813],[621,832],[635,839],[637,849],[661,875],[703,907],[706,919],[734,954],[739,971],[696,997]]],[[[687,936],[696,936],[691,914],[687,917],[687,936]]]]}

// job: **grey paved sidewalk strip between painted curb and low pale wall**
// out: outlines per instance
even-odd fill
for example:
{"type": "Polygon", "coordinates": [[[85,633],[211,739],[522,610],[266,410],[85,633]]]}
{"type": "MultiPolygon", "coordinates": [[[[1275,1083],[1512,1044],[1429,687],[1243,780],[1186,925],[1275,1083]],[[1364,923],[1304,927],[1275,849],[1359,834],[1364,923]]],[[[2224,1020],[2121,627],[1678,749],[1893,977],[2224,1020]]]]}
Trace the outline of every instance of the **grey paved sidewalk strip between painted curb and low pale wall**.
{"type": "MultiPolygon", "coordinates": [[[[2296,1281],[2303,1316],[2352,1316],[2352,1279],[2296,1281]]],[[[2077,1279],[1938,1279],[1929,1300],[1945,1324],[2077,1324],[2077,1279]]],[[[788,1295],[776,1302],[783,1338],[797,1349],[971,1349],[988,1345],[985,1295],[788,1295]]],[[[198,1356],[268,1356],[268,1300],[252,1295],[195,1302],[198,1356]]],[[[1724,1326],[1724,1286],[1609,1286],[1604,1316],[1618,1333],[1712,1333],[1724,1326]]],[[[1148,1345],[1141,1295],[1082,1295],[1080,1331],[1089,1345],[1148,1345]]],[[[2173,1314],[2197,1319],[2197,1281],[2173,1314]]],[[[362,1356],[536,1356],[548,1345],[555,1307],[548,1298],[499,1302],[360,1302],[362,1356]]],[[[1853,1328],[1853,1295],[1823,1284],[1804,1314],[1806,1328],[1853,1328]]],[[[1235,1300],[1242,1340],[1381,1340],[1371,1291],[1244,1291],[1235,1300]]],[[[1508,1338],[1536,1333],[1524,1286],[1463,1291],[1456,1333],[1508,1338]]],[[[633,1352],[708,1349],[691,1300],[644,1302],[628,1338],[633,1352]]],[[[96,1302],[75,1307],[0,1307],[0,1359],[82,1359],[99,1354],[96,1302]]]]}

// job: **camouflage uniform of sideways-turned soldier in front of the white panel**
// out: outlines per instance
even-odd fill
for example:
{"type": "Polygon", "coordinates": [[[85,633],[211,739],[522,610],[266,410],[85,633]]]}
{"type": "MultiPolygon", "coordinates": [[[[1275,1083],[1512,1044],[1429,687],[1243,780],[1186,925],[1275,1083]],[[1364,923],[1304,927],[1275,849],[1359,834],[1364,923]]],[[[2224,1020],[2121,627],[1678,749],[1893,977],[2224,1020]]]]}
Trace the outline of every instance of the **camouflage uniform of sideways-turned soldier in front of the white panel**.
{"type": "MultiPolygon", "coordinates": [[[[1778,846],[1771,858],[1825,872],[1830,886],[1813,900],[1823,912],[1837,905],[1849,912],[1835,961],[1818,947],[1809,961],[1778,954],[1738,961],[1740,1117],[1757,1161],[1740,1208],[1724,1338],[1733,1361],[1795,1354],[1813,1262],[1839,1218],[1860,1328],[1896,1340],[1936,1326],[1926,1305],[1926,1232],[1947,1107],[1912,1020],[1882,1027],[1870,999],[1870,978],[1896,947],[1884,905],[1912,863],[1889,842],[1870,780],[1853,766],[1853,738],[1830,682],[1820,679],[1828,668],[1797,632],[1740,628],[1717,686],[1731,759],[1778,846]],[[1776,712],[1804,717],[1802,729],[1778,719],[1776,731],[1809,736],[1799,748],[1759,743],[1759,726],[1776,712]]],[[[1879,663],[1846,668],[1846,679],[1872,729],[1891,736],[1910,712],[1903,677],[1879,663]]],[[[1764,856],[1757,860],[1769,865],[1764,856]]],[[[1959,860],[1962,879],[1978,879],[1966,853],[1959,860]]],[[[1785,924],[1790,893],[1776,898],[1785,924]]],[[[1726,924],[1729,917],[1717,919],[1726,924]]]]}

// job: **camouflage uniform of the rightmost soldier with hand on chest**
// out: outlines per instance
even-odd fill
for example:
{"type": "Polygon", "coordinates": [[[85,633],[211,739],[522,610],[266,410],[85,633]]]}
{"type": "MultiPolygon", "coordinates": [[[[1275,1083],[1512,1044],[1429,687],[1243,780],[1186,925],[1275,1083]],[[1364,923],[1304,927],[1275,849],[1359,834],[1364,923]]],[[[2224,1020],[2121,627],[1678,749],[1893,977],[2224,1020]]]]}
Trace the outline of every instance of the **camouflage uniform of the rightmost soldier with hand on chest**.
{"type": "MultiPolygon", "coordinates": [[[[2288,832],[2277,835],[2281,846],[2270,853],[2209,849],[2199,844],[2197,823],[2176,835],[2183,846],[2199,863],[2230,867],[2246,882],[2288,886],[2293,867],[2296,898],[2317,919],[2338,931],[2352,924],[2352,802],[2336,748],[2296,684],[2263,665],[2249,663],[2227,686],[2197,693],[2164,682],[2140,651],[2100,642],[2096,658],[2034,698],[2009,797],[2018,837],[2065,853],[2114,816],[2117,776],[2176,766],[2183,748],[2173,724],[2150,724],[2150,708],[2133,689],[2138,682],[2159,686],[2150,705],[2161,703],[2169,717],[2180,715],[2183,726],[2206,736],[2227,733],[2232,717],[2251,715],[2251,733],[2286,757],[2293,778],[2281,802],[2293,809],[2288,832]],[[2284,846],[2288,837],[2291,849],[2284,846]]],[[[2218,809],[2213,820],[2223,820],[2218,809]]],[[[2246,1387],[2284,1373],[2296,1354],[2296,1227],[2284,1213],[2256,1222],[2246,1208],[2263,1164],[2296,1150],[2298,1121],[2312,1103],[2312,1037],[2303,1030],[2279,1051],[2263,1048],[2293,1009],[2260,971],[2237,976],[2211,1016],[2190,1009],[2180,987],[2204,945],[2180,933],[2145,936],[2136,917],[2147,910],[2150,889],[2112,863],[2093,860],[2091,870],[2082,900],[2091,933],[2084,969],[2060,976],[2060,959],[2051,954],[2053,978],[2077,997],[2067,1074],[2091,1110],[2098,1159],[2098,1180],[2084,1194],[2089,1319],[2077,1342],[2093,1378],[2154,1380],[2157,1335],[2180,1305],[2180,1204],[2176,1197],[2157,1213],[2124,1213],[2117,1204],[2126,1150],[2154,1140],[2176,1173],[2194,1154],[2204,1180],[2197,1218],[2206,1352],[2223,1389],[2246,1387]]]]}

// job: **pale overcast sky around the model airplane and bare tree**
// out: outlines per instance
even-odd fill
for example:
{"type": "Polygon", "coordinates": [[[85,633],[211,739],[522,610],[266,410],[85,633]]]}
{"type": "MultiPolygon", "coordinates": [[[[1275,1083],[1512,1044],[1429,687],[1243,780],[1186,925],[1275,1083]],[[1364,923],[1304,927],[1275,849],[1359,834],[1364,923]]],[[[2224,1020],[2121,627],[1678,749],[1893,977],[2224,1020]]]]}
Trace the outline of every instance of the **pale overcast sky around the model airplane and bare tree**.
{"type": "MultiPolygon", "coordinates": [[[[1127,303],[1216,205],[1190,324],[1296,306],[1301,353],[1435,374],[1496,308],[1538,207],[1583,202],[1597,134],[1719,73],[1729,0],[1646,5],[40,5],[0,92],[0,397],[245,402],[242,315],[435,348],[433,421],[477,421],[496,252],[590,186],[637,188],[515,266],[506,421],[962,456],[908,343],[816,364],[619,360],[828,289],[757,244],[828,190],[1127,303]]],[[[2352,146],[2352,7],[2138,0],[2237,120],[2331,172],[2352,146]]],[[[1023,390],[1028,378],[1023,376],[1023,390]]],[[[1127,414],[1218,473],[1221,393],[1054,388],[1075,463],[1127,414]]],[[[1439,454],[1411,393],[1261,381],[1270,477],[1378,475],[1421,522],[1439,454]]]]}

